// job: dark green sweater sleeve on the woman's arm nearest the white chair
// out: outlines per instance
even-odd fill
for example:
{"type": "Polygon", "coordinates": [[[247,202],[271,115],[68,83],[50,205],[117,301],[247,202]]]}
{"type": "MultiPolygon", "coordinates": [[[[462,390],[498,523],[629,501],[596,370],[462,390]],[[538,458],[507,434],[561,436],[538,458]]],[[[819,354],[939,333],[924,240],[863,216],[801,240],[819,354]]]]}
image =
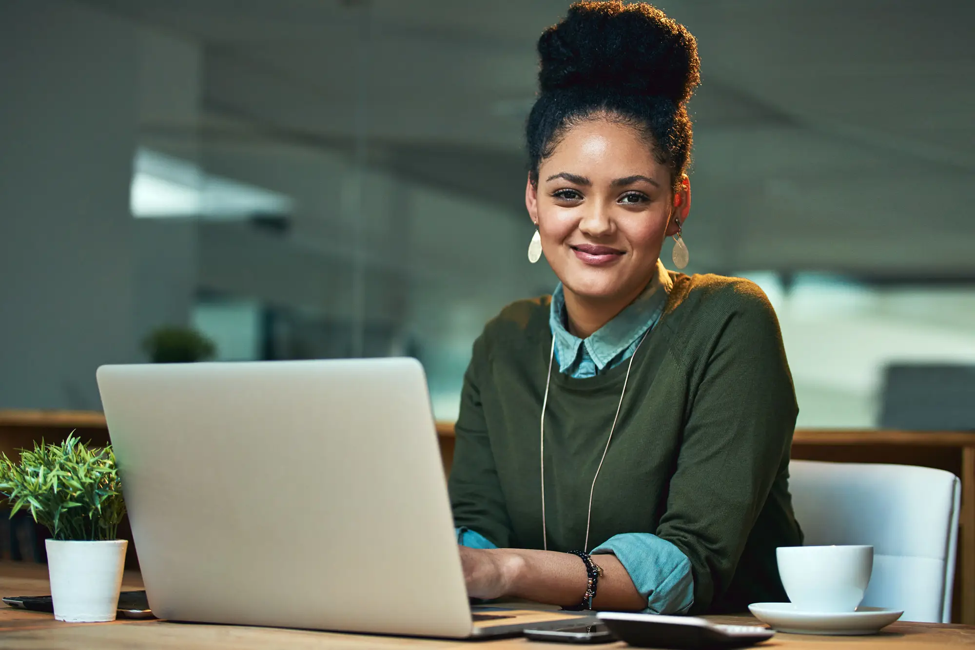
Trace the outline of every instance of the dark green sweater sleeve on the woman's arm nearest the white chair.
{"type": "Polygon", "coordinates": [[[731,288],[690,386],[683,441],[657,536],[690,560],[694,604],[724,593],[783,459],[798,407],[778,321],[761,289],[731,288]]]}

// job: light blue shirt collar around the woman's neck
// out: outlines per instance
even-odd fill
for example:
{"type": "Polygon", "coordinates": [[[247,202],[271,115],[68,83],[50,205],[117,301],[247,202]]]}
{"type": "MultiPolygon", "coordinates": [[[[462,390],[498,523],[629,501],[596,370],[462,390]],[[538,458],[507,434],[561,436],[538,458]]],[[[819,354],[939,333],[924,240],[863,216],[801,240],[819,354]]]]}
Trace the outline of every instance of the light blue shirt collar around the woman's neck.
{"type": "Polygon", "coordinates": [[[671,287],[673,281],[670,274],[663,263],[657,260],[656,272],[637,299],[589,337],[581,339],[566,329],[568,320],[565,313],[565,292],[562,283],[559,283],[552,293],[549,313],[559,370],[568,373],[580,361],[580,354],[588,355],[597,372],[622,361],[619,358],[631,347],[635,347],[638,339],[660,318],[671,287]]]}

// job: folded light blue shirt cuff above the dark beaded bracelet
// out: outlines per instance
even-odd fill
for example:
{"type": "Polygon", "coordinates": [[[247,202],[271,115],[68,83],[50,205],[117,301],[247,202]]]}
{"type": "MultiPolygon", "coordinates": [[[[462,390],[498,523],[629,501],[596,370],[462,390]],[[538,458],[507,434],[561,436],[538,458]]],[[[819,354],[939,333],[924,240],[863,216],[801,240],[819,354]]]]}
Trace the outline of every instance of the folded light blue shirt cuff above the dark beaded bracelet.
{"type": "Polygon", "coordinates": [[[610,537],[592,554],[616,555],[646,599],[643,611],[648,614],[686,614],[694,604],[690,560],[667,540],[650,533],[622,533],[610,537]]]}

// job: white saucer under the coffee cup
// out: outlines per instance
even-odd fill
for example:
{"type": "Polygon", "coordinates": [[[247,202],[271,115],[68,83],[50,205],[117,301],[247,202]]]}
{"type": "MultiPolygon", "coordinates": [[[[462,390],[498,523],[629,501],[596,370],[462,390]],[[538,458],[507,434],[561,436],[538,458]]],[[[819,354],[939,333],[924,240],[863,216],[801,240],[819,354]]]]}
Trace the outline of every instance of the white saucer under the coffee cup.
{"type": "Polygon", "coordinates": [[[794,634],[876,634],[904,613],[860,606],[855,612],[823,614],[800,611],[791,602],[754,602],[748,608],[773,630],[794,634]]]}

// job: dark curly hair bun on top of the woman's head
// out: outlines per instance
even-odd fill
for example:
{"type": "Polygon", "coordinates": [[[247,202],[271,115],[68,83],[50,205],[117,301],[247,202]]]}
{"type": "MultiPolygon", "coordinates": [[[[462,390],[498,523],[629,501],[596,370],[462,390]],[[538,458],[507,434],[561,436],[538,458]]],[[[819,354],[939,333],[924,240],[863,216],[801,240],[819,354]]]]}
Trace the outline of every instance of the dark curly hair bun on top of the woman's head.
{"type": "Polygon", "coordinates": [[[576,2],[538,39],[541,92],[603,89],[665,96],[675,105],[700,83],[697,41],[646,3],[576,2]]]}

